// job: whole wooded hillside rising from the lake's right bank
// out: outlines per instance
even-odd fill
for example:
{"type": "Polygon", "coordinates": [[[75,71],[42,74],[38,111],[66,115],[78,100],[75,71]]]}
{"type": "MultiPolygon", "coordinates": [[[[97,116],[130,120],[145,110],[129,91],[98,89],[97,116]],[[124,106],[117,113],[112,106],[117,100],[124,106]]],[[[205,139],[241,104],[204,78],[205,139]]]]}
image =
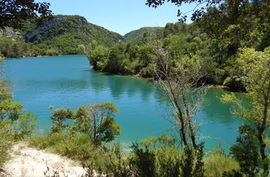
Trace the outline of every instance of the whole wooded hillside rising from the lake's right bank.
{"type": "Polygon", "coordinates": [[[237,55],[244,47],[264,51],[270,45],[268,18],[253,15],[257,7],[249,8],[248,16],[240,14],[234,21],[232,14],[220,13],[216,8],[210,8],[205,16],[189,25],[168,23],[164,30],[156,33],[146,30],[138,43],[136,41],[139,41],[139,37],[134,36],[140,35],[144,29],[141,28],[125,35],[131,44],[120,43],[109,48],[99,44],[89,55],[90,64],[103,72],[151,77],[153,66],[158,62],[157,49],[161,47],[168,52],[169,59],[174,64],[183,59],[199,60],[207,73],[203,77],[206,84],[243,90],[235,75],[237,55]]]}

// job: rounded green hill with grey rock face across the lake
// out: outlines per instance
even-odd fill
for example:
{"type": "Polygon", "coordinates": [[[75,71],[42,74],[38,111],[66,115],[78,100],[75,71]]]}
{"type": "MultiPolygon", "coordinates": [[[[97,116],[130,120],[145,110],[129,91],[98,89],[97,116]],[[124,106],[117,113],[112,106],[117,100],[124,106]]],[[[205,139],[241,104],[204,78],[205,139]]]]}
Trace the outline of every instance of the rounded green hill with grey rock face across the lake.
{"type": "Polygon", "coordinates": [[[107,47],[124,40],[118,33],[88,23],[82,16],[59,15],[38,27],[27,23],[23,33],[26,42],[33,42],[45,49],[60,50],[62,54],[80,53],[78,45],[87,45],[92,40],[107,47]]]}

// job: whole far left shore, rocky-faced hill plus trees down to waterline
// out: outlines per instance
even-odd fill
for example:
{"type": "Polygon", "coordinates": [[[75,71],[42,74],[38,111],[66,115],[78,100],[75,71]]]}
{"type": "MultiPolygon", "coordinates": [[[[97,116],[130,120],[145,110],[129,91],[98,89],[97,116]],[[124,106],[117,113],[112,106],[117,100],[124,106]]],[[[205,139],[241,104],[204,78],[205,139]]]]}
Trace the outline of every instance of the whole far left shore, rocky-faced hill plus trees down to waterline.
{"type": "Polygon", "coordinates": [[[92,40],[109,47],[124,38],[98,25],[88,23],[82,16],[55,16],[43,25],[24,23],[21,30],[11,28],[1,31],[0,56],[23,57],[38,55],[82,54],[79,45],[92,40]],[[16,37],[11,35],[16,33],[16,37]]]}

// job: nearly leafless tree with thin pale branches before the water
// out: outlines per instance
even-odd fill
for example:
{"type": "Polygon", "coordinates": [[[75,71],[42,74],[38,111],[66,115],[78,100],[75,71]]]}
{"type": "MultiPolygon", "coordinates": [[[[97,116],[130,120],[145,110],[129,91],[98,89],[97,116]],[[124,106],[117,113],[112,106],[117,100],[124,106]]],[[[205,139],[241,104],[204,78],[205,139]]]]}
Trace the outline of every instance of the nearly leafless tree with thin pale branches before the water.
{"type": "Polygon", "coordinates": [[[154,81],[168,100],[163,116],[179,132],[183,145],[198,148],[195,135],[198,111],[205,103],[207,86],[202,82],[202,64],[198,57],[183,57],[181,61],[170,59],[166,48],[156,47],[157,63],[153,65],[154,81]]]}

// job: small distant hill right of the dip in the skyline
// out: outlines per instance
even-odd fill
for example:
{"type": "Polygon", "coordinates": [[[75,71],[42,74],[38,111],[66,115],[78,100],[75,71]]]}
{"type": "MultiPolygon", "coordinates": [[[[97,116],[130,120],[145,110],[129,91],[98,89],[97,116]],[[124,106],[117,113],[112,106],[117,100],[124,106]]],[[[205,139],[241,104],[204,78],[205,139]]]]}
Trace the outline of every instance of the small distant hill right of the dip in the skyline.
{"type": "Polygon", "coordinates": [[[137,44],[143,41],[144,33],[163,35],[163,30],[163,27],[144,27],[139,30],[132,30],[124,35],[124,40],[131,44],[137,44]]]}

